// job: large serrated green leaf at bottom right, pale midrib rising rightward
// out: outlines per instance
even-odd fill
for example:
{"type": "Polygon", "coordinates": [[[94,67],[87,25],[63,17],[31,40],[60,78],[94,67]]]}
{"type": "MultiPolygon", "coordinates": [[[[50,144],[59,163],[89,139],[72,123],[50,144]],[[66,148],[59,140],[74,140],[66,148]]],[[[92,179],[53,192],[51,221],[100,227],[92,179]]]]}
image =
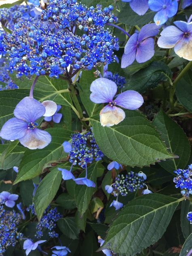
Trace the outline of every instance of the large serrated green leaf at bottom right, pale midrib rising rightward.
{"type": "Polygon", "coordinates": [[[181,200],[162,194],[134,199],[119,212],[100,250],[131,256],[154,244],[164,234],[181,200]]]}

